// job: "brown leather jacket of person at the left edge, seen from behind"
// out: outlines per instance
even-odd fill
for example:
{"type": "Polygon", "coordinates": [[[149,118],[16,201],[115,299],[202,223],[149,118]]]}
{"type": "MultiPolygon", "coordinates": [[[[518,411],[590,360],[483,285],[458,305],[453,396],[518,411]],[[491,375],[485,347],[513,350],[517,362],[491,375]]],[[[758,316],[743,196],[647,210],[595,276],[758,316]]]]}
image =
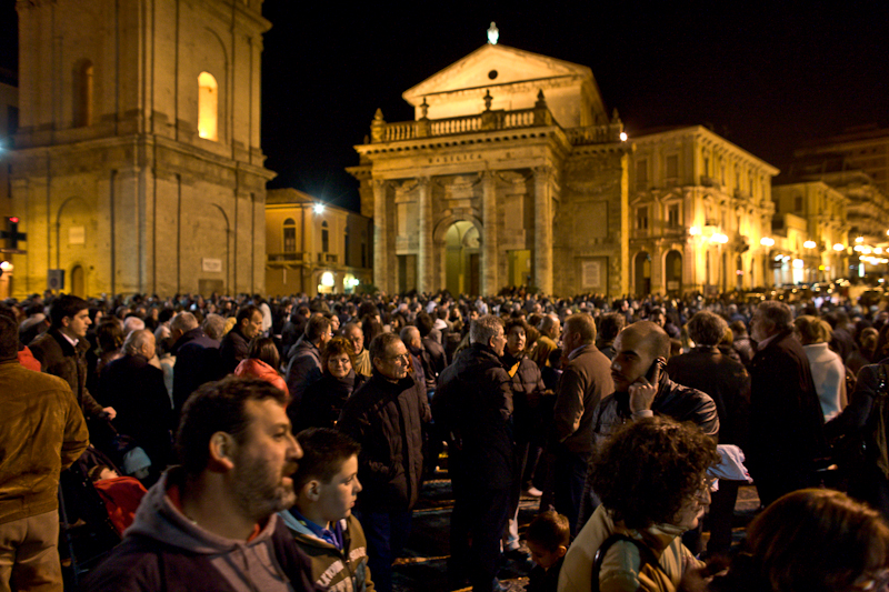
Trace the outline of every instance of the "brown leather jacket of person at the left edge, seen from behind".
{"type": "Polygon", "coordinates": [[[87,450],[83,413],[68,384],[0,362],[0,524],[58,508],[59,472],[87,450]],[[39,420],[39,421],[38,421],[39,420]]]}

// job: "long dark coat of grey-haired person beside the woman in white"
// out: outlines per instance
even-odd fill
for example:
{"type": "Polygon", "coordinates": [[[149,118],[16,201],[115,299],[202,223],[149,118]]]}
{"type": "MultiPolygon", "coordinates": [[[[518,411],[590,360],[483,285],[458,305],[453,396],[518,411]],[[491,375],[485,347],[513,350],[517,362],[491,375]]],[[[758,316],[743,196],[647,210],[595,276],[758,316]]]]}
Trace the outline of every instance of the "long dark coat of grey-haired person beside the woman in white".
{"type": "Polygon", "coordinates": [[[823,427],[809,360],[792,331],[786,330],[750,362],[750,438],[745,452],[753,479],[786,482],[787,473],[811,470],[812,460],[827,454],[823,427]]]}

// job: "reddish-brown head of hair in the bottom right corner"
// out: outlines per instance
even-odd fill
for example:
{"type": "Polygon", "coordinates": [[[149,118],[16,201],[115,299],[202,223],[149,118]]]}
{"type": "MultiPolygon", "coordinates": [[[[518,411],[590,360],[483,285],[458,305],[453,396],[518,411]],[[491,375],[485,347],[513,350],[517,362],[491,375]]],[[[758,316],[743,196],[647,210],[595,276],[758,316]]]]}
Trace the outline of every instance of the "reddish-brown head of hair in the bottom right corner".
{"type": "Polygon", "coordinates": [[[788,493],[750,523],[747,542],[713,592],[885,591],[889,526],[845,493],[788,493]]]}

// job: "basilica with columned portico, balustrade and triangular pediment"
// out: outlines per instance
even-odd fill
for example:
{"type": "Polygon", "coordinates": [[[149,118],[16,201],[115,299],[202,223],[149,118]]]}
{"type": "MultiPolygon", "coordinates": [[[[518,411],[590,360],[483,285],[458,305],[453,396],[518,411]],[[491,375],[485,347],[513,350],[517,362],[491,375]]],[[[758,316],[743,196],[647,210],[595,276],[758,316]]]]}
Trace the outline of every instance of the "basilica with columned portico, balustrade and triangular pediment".
{"type": "Polygon", "coordinates": [[[402,97],[348,169],[381,290],[627,293],[631,144],[589,68],[488,43],[402,97]]]}

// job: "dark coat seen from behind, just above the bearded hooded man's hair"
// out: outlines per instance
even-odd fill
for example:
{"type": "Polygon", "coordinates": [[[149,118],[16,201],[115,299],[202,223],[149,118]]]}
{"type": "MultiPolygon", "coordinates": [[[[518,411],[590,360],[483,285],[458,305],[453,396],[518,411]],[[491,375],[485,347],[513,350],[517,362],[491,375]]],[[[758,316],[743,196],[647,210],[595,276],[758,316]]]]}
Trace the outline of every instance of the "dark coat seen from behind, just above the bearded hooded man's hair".
{"type": "Polygon", "coordinates": [[[182,333],[170,353],[176,355],[173,408],[178,415],[198,387],[222,378],[219,371],[219,342],[207,337],[203,329],[198,327],[182,333]]]}

